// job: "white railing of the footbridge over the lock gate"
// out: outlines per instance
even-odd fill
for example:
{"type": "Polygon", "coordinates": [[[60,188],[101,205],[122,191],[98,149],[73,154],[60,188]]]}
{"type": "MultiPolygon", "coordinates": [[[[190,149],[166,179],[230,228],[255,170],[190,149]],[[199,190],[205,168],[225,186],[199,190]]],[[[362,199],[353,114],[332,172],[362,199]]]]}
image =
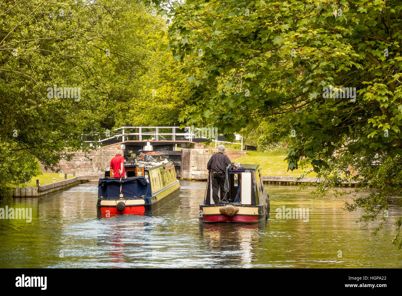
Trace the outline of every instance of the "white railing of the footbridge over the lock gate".
{"type": "MultiPolygon", "coordinates": [[[[100,139],[98,138],[98,141],[85,141],[86,143],[98,143],[98,147],[100,147],[100,144],[102,144],[105,141],[111,140],[111,139],[119,139],[121,137],[121,141],[124,143],[127,141],[128,136],[138,136],[139,141],[160,141],[160,138],[166,139],[168,137],[164,136],[171,136],[172,140],[175,142],[176,137],[178,136],[179,139],[188,139],[188,141],[193,142],[193,139],[197,138],[202,138],[198,137],[195,133],[195,130],[202,130],[201,128],[194,128],[192,130],[192,127],[186,126],[185,127],[185,132],[177,132],[176,130],[180,129],[178,126],[121,126],[119,128],[115,128],[114,130],[109,131],[113,136],[105,138],[105,139],[100,139]],[[135,132],[132,132],[132,130],[135,130],[135,132]],[[143,130],[150,130],[154,129],[154,131],[143,131],[143,130]],[[160,129],[172,129],[172,132],[160,132],[160,129]],[[119,132],[121,130],[121,132],[119,132]],[[138,132],[137,132],[138,130],[138,132]],[[129,132],[127,132],[129,131],[129,132]],[[131,131],[131,132],[130,132],[131,131]],[[143,137],[149,137],[151,136],[151,139],[143,139],[143,137]]],[[[207,139],[207,141],[213,141],[215,142],[215,148],[217,147],[217,143],[228,143],[228,144],[235,144],[235,145],[240,145],[241,150],[243,150],[243,137],[240,135],[236,135],[236,141],[241,141],[241,143],[236,143],[236,142],[226,142],[226,141],[218,141],[217,137],[218,135],[215,135],[215,139],[207,139]]]]}

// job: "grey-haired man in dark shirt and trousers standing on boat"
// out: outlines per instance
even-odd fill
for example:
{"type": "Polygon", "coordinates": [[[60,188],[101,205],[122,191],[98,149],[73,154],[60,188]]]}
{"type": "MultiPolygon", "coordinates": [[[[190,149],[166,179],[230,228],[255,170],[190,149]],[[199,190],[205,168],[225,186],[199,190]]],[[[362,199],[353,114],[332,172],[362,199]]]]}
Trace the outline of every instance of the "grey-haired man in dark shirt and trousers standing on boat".
{"type": "MultiPolygon", "coordinates": [[[[211,173],[212,199],[215,204],[219,202],[219,186],[222,188],[221,200],[228,201],[228,195],[225,190],[225,172],[227,166],[232,162],[224,153],[225,146],[219,145],[218,153],[213,154],[207,164],[207,169],[211,173]]],[[[237,170],[237,166],[234,165],[234,167],[237,170]]]]}

